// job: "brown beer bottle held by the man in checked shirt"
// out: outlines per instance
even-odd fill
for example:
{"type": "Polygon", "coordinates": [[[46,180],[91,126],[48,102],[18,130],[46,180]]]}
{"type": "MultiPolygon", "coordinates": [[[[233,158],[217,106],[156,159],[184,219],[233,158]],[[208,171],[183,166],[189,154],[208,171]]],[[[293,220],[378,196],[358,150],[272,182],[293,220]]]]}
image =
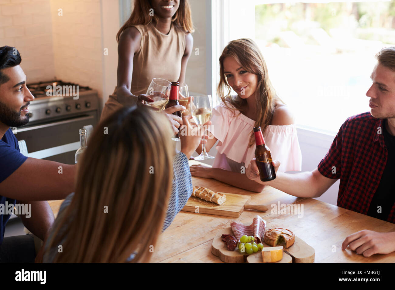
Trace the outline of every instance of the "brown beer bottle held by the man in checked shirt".
{"type": "Polygon", "coordinates": [[[276,172],[272,164],[270,149],[265,145],[261,127],[254,127],[255,136],[255,159],[259,169],[261,181],[270,181],[276,178],[276,172]]]}

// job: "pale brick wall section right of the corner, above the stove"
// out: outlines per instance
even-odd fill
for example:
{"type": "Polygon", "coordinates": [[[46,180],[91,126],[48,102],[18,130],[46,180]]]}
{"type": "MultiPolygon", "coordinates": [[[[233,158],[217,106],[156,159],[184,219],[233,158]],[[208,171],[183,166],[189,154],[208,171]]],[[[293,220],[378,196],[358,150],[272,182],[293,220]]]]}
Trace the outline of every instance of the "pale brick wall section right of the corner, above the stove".
{"type": "Polygon", "coordinates": [[[90,86],[102,98],[100,0],[51,0],[51,15],[56,77],[90,86]],[[63,16],[58,15],[59,9],[63,16]]]}

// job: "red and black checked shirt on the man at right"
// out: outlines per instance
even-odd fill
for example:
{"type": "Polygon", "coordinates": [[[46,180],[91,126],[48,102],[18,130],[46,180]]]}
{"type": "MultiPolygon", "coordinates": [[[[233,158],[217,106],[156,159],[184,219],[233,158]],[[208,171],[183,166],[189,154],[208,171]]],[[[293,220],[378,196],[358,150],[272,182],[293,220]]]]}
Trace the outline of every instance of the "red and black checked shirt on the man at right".
{"type": "MultiPolygon", "coordinates": [[[[384,125],[383,119],[376,119],[369,112],[348,118],[318,164],[323,176],[340,178],[337,206],[368,213],[387,163],[384,137],[379,134],[384,125]]],[[[395,223],[395,204],[387,221],[395,223]]]]}

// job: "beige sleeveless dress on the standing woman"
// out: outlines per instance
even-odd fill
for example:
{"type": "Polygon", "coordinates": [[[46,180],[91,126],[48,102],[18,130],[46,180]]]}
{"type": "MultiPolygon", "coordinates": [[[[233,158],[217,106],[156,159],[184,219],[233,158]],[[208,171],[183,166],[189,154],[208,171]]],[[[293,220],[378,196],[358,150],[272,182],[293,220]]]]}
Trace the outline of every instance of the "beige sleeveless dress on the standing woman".
{"type": "MultiPolygon", "coordinates": [[[[145,94],[153,78],[177,81],[181,73],[181,59],[185,51],[185,32],[171,24],[169,34],[163,34],[152,24],[135,25],[141,34],[139,50],[133,58],[133,75],[130,92],[145,94]]],[[[123,107],[117,101],[117,87],[105,103],[100,120],[123,107]]],[[[136,100],[137,101],[137,100],[136,100]]]]}

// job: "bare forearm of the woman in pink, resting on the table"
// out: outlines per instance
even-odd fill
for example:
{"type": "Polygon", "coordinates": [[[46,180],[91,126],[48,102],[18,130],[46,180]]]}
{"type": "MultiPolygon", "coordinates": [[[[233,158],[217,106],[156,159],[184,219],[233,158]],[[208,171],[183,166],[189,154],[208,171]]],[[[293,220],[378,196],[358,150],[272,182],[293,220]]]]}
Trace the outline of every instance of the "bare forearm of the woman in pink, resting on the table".
{"type": "Polygon", "coordinates": [[[210,168],[210,176],[216,180],[240,187],[249,191],[261,192],[265,185],[248,179],[246,174],[231,172],[221,168],[210,168]]]}

